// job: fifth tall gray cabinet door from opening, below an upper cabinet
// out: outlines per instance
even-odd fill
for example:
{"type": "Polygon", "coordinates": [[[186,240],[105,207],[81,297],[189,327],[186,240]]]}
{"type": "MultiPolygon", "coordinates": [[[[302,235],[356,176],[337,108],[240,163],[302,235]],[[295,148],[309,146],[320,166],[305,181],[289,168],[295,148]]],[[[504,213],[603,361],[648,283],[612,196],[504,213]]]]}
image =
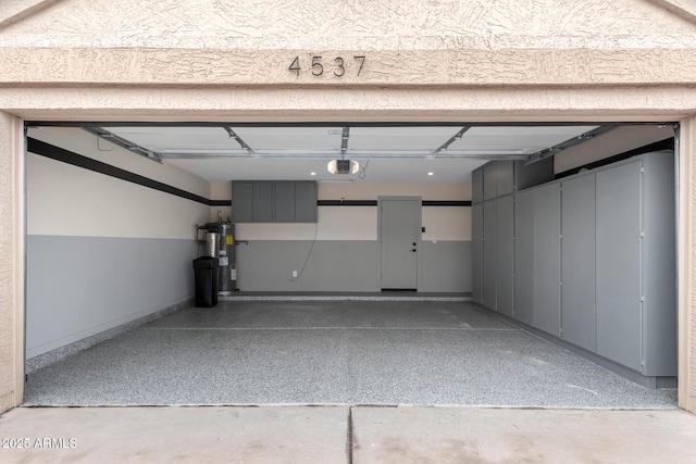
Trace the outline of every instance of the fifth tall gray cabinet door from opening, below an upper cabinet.
{"type": "Polygon", "coordinates": [[[514,302],[514,201],[512,196],[497,200],[497,311],[512,317],[514,302]]]}

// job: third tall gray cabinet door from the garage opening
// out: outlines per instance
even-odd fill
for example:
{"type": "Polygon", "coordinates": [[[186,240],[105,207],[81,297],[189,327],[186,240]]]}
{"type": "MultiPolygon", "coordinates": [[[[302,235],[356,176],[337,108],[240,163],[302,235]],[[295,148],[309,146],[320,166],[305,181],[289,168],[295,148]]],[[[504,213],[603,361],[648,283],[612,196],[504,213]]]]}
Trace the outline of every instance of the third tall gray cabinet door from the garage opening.
{"type": "Polygon", "coordinates": [[[534,327],[560,336],[560,184],[534,190],[534,327]]]}

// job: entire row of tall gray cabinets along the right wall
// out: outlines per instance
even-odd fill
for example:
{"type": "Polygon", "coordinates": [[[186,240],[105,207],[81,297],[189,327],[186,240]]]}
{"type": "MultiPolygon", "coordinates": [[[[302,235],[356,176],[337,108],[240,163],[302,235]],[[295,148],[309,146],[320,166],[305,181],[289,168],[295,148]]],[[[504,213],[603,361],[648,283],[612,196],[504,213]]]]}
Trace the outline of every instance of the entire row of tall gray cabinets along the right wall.
{"type": "MultiPolygon", "coordinates": [[[[474,184],[489,179],[489,164],[474,184]]],[[[662,380],[676,376],[673,152],[634,156],[513,196],[486,199],[484,188],[474,201],[473,230],[474,283],[483,269],[474,301],[646,386],[669,385],[662,380]]]]}

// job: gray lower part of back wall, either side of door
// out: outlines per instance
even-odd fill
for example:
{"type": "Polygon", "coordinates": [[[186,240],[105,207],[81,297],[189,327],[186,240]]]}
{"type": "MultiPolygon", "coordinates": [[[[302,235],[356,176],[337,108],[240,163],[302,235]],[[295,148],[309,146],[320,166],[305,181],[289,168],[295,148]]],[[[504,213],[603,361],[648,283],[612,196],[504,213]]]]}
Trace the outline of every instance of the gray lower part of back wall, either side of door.
{"type": "MultiPolygon", "coordinates": [[[[380,291],[376,241],[258,240],[237,247],[237,288],[243,291],[380,291]]],[[[471,242],[421,244],[420,291],[471,291],[471,242]]]]}

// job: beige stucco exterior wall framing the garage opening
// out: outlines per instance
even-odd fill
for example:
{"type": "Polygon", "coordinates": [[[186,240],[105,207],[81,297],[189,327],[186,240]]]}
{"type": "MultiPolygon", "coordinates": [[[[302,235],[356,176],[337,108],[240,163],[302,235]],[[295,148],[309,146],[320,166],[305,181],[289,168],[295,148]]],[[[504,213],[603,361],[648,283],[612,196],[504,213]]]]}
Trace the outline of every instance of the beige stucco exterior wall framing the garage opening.
{"type": "MultiPolygon", "coordinates": [[[[14,0],[12,8],[0,16],[0,110],[28,120],[682,121],[680,405],[696,412],[693,2],[14,0]],[[314,76],[320,55],[324,68],[314,76]],[[365,57],[362,68],[355,57],[365,57]],[[299,72],[289,68],[295,58],[299,72]]],[[[21,330],[12,329],[22,314],[21,135],[16,120],[0,115],[0,411],[21,401],[21,330]]]]}

